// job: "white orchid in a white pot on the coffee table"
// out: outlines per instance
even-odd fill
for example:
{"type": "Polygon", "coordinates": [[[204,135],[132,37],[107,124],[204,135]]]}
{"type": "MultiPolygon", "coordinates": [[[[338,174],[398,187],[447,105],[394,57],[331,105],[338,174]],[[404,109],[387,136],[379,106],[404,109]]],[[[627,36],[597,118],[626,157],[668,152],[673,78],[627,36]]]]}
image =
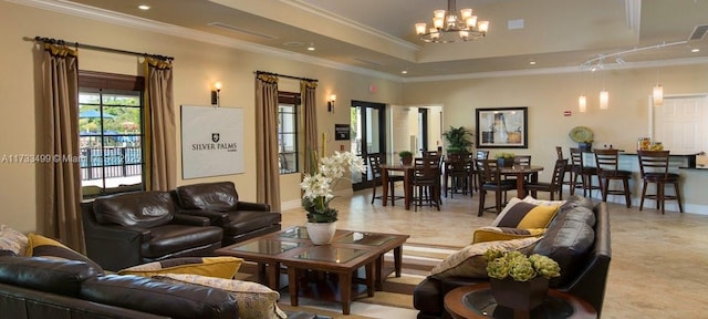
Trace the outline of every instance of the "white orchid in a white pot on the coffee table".
{"type": "Polygon", "coordinates": [[[329,157],[314,157],[314,173],[305,174],[300,187],[304,191],[302,207],[308,212],[308,235],[315,245],[332,243],[336,231],[337,210],[330,207],[334,199],[334,186],[344,173],[366,172],[364,160],[351,152],[334,152],[329,157]]]}

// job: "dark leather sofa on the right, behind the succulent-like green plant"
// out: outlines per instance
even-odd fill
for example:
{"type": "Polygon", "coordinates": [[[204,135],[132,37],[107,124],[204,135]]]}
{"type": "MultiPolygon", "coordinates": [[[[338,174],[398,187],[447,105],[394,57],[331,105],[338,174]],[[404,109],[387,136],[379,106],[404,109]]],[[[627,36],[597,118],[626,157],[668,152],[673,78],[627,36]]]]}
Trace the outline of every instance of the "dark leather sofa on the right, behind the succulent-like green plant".
{"type": "MultiPolygon", "coordinates": [[[[533,247],[531,254],[534,253],[549,256],[561,265],[561,277],[550,281],[551,288],[580,297],[601,313],[612,257],[606,203],[593,205],[589,198],[571,196],[533,247]],[[591,245],[579,245],[590,241],[591,245]],[[589,248],[579,249],[579,246],[589,248]]],[[[445,310],[445,295],[457,287],[487,281],[428,276],[414,289],[413,302],[419,310],[418,318],[450,318],[445,310]]]]}

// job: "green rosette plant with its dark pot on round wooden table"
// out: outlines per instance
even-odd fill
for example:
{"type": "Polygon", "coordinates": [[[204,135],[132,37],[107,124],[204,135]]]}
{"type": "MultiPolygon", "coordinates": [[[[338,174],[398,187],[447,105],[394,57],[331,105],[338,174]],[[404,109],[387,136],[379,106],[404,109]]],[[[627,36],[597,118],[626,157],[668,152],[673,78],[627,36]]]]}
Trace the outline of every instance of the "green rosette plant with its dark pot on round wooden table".
{"type": "Polygon", "coordinates": [[[497,303],[531,311],[543,303],[549,279],[561,276],[561,267],[546,256],[489,249],[485,253],[487,275],[497,303]]]}

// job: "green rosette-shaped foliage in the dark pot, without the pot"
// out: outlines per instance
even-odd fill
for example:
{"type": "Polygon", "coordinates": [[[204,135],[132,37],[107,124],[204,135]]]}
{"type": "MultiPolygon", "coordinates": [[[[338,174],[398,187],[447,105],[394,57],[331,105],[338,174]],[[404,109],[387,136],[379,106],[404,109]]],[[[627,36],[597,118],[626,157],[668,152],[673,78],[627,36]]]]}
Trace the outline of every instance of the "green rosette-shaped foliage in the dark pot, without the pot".
{"type": "Polygon", "coordinates": [[[489,249],[487,258],[487,275],[490,278],[504,279],[511,277],[516,281],[529,281],[537,276],[546,279],[561,276],[561,267],[555,260],[533,254],[529,257],[520,251],[500,251],[489,249]]]}

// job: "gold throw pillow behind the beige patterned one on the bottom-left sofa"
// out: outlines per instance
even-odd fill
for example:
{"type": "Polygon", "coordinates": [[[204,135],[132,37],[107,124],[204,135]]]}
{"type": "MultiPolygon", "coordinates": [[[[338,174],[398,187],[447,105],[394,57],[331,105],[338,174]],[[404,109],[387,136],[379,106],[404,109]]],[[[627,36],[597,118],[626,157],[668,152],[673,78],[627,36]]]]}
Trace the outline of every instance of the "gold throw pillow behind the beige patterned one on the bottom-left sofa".
{"type": "Polygon", "coordinates": [[[162,274],[190,274],[231,279],[243,259],[236,257],[179,257],[133,266],[118,275],[153,277],[162,274]]]}

